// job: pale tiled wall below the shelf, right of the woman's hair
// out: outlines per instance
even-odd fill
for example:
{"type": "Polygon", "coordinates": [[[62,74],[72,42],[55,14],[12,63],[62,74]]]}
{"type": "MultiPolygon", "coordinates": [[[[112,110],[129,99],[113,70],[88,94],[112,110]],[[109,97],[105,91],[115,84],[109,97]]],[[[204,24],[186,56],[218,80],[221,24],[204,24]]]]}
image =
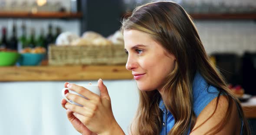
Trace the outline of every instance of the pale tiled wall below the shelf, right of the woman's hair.
{"type": "Polygon", "coordinates": [[[244,51],[256,52],[256,22],[245,21],[196,21],[199,36],[207,53],[244,51]]]}

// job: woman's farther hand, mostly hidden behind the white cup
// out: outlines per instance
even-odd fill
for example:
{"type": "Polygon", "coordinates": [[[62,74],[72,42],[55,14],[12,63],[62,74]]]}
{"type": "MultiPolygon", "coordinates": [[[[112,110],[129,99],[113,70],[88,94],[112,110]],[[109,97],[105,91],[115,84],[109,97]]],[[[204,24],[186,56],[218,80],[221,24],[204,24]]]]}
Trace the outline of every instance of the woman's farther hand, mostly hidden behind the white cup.
{"type": "MultiPolygon", "coordinates": [[[[67,85],[69,83],[66,82],[64,84],[64,87],[67,88],[67,85]]],[[[65,99],[61,100],[61,105],[64,109],[66,109],[65,104],[67,103],[67,101],[65,99]]],[[[71,122],[71,124],[73,125],[73,127],[75,128],[75,130],[77,130],[78,132],[80,132],[82,135],[96,135],[95,133],[91,132],[79,119],[77,119],[74,115],[73,112],[69,109],[66,109],[66,113],[67,113],[67,117],[69,119],[69,122],[71,122]]]]}

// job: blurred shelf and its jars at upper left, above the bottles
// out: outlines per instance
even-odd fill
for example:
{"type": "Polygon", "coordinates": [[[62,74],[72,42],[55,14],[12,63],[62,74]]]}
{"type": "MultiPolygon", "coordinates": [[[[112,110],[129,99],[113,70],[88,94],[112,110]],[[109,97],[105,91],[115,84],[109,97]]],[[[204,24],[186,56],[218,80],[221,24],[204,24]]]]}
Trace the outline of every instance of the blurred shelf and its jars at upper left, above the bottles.
{"type": "Polygon", "coordinates": [[[76,0],[0,0],[0,18],[81,18],[76,0]]]}

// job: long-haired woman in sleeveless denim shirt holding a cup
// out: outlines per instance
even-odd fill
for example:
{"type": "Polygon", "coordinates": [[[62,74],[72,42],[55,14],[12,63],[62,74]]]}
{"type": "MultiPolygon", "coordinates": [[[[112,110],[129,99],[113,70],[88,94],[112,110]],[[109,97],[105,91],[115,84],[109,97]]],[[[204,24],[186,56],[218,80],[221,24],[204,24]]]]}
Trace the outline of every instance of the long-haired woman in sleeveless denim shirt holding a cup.
{"type": "MultiPolygon", "coordinates": [[[[167,1],[139,6],[123,21],[122,32],[126,68],[140,90],[130,134],[250,134],[239,100],[210,63],[193,21],[181,6],[167,1]]],[[[86,101],[67,93],[69,99],[84,105],[62,100],[69,121],[84,135],[124,134],[101,79],[98,86],[101,97],[68,84],[89,98],[86,101]]]]}

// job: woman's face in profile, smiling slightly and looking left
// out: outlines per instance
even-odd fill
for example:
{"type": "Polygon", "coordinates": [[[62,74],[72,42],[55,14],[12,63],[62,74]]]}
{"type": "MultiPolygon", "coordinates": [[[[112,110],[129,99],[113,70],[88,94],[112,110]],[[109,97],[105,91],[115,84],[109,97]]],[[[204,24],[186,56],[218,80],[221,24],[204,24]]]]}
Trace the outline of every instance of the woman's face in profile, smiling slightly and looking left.
{"type": "Polygon", "coordinates": [[[174,55],[138,30],[124,31],[128,53],[126,69],[131,70],[139,90],[161,90],[167,75],[174,69],[174,55]]]}

